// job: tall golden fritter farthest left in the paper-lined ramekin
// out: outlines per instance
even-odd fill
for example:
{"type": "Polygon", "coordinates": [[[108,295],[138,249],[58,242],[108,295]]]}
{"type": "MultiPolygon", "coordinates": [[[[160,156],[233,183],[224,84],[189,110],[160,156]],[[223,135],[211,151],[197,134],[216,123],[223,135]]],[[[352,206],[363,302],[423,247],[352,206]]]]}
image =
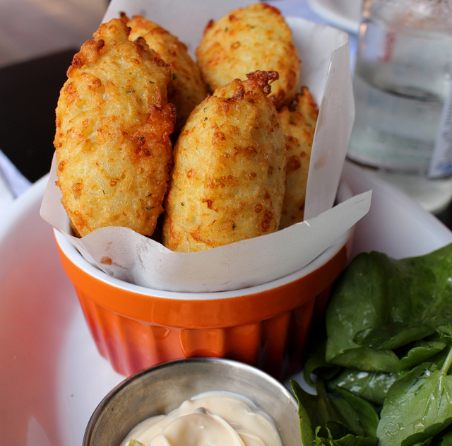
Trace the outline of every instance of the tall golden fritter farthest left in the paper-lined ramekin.
{"type": "Polygon", "coordinates": [[[57,174],[83,237],[104,226],[152,235],[172,166],[171,69],[119,19],[100,26],[68,69],[57,106],[57,174]]]}

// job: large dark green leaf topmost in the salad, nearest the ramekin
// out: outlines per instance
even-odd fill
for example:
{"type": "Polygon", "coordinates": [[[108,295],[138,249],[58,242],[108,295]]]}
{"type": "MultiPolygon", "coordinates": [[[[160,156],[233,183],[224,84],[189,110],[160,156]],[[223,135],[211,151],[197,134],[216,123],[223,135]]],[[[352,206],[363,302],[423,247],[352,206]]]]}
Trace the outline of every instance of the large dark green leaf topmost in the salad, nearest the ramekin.
{"type": "Polygon", "coordinates": [[[398,358],[391,349],[438,327],[452,327],[452,245],[401,260],[378,252],[359,254],[331,295],[326,360],[396,372],[398,358]]]}

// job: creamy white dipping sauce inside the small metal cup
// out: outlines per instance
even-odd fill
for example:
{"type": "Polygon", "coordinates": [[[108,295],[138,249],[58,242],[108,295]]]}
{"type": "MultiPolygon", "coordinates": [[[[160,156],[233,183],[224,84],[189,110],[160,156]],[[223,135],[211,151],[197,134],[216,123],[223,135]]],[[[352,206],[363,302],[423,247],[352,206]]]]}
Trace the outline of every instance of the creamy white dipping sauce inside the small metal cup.
{"type": "Polygon", "coordinates": [[[206,392],[168,415],[152,416],[135,426],[129,440],[145,446],[283,446],[270,419],[251,401],[227,392],[206,392]]]}

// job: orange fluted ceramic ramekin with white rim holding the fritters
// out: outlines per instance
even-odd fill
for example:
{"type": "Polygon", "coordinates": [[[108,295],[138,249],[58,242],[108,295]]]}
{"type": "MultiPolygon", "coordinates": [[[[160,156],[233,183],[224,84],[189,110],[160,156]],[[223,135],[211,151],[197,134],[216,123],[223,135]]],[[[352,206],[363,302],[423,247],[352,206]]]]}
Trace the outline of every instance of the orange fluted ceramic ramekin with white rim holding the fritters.
{"type": "Polygon", "coordinates": [[[87,262],[55,231],[97,349],[131,375],[167,360],[229,358],[283,379],[302,366],[311,322],[350,254],[350,229],[303,269],[269,283],[218,293],[173,293],[126,283],[87,262]]]}

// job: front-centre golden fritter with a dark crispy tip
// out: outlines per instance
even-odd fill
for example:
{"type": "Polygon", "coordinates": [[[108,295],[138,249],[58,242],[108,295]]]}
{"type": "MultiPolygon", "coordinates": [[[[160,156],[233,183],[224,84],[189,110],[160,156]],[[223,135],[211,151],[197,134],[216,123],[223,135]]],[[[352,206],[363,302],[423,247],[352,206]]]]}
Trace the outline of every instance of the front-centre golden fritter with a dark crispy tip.
{"type": "Polygon", "coordinates": [[[267,97],[275,71],[235,79],[191,113],[174,147],[163,244],[208,250],[278,230],[285,137],[267,97]]]}

